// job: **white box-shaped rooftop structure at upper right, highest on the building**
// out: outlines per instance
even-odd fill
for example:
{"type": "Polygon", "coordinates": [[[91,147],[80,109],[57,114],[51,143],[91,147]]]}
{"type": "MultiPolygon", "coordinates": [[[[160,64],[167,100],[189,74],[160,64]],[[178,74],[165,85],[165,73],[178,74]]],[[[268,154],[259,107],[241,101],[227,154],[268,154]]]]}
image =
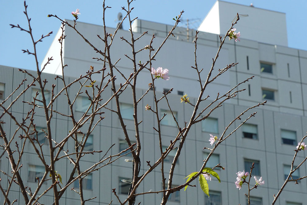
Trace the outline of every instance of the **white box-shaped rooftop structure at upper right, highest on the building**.
{"type": "Polygon", "coordinates": [[[242,38],[288,46],[285,13],[224,1],[216,1],[198,30],[224,35],[237,13],[249,15],[249,17],[240,18],[234,26],[237,31],[240,31],[242,38]],[[216,22],[217,19],[218,22],[216,22]],[[212,23],[216,25],[212,26],[212,23]],[[219,26],[220,33],[217,33],[216,26],[219,26]]]}

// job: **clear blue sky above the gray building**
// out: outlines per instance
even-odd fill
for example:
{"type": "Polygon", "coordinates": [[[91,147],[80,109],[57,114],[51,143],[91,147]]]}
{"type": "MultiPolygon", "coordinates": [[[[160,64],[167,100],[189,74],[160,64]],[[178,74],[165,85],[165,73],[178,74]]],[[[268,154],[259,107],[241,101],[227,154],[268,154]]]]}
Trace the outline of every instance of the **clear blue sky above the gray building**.
{"type": "MultiPolygon", "coordinates": [[[[216,0],[186,1],[186,0],[136,0],[132,3],[134,10],[133,17],[140,19],[173,24],[172,18],[184,10],[183,19],[200,19],[206,16],[216,0]]],[[[253,5],[257,8],[274,10],[286,13],[288,45],[292,48],[307,50],[307,0],[227,0],[243,5],[253,5]]],[[[102,25],[102,1],[101,0],[28,0],[28,14],[31,18],[32,30],[35,39],[39,39],[42,34],[53,31],[50,37],[38,43],[38,61],[41,63],[45,54],[60,28],[60,22],[55,18],[48,18],[48,14],[56,14],[60,18],[73,19],[71,14],[77,8],[80,9],[78,21],[102,25]]],[[[125,0],[106,0],[106,5],[112,8],[107,11],[106,24],[109,27],[116,26],[117,14],[124,12],[121,6],[126,6],[125,0]]],[[[22,69],[36,69],[32,55],[22,53],[21,49],[33,51],[29,34],[17,28],[10,28],[9,24],[19,24],[25,29],[29,29],[25,15],[24,6],[21,0],[0,0],[0,65],[7,65],[22,69]]],[[[192,22],[192,20],[190,20],[192,22]]],[[[185,22],[179,26],[185,26],[185,22]]],[[[200,22],[196,23],[199,24],[200,22]]],[[[128,28],[124,24],[124,29],[128,28]]],[[[90,31],[89,31],[90,32],[90,31]]],[[[262,32],[261,30],[259,32],[262,32]]],[[[76,48],[78,49],[77,45],[76,48]]]]}

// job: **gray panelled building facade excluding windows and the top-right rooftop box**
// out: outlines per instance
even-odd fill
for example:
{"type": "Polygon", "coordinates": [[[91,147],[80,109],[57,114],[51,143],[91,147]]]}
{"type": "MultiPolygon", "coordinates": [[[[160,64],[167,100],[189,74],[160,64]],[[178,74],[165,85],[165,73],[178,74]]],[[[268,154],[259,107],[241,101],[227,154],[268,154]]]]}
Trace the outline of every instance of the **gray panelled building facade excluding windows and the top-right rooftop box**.
{"type": "MultiPolygon", "coordinates": [[[[72,22],[72,21],[68,21],[72,22]]],[[[95,45],[103,46],[102,42],[95,37],[96,33],[102,33],[103,27],[97,25],[91,25],[79,22],[77,28],[80,33],[84,33],[88,39],[91,39],[95,45]],[[87,32],[93,30],[95,32],[87,32]]],[[[114,28],[107,28],[109,33],[114,32],[114,28]]],[[[136,46],[144,47],[148,45],[152,34],[156,35],[154,46],[155,48],[162,42],[164,37],[168,34],[168,30],[171,26],[164,25],[155,22],[148,22],[143,20],[135,20],[133,25],[133,31],[135,34],[142,34],[144,31],[149,31],[148,35],[139,41],[136,46]]],[[[190,30],[190,41],[186,41],[186,35],[179,34],[180,28],[174,31],[177,38],[171,38],[166,43],[165,47],[161,49],[161,53],[156,57],[156,63],[154,67],[162,66],[170,70],[170,80],[159,80],[157,84],[157,95],[161,96],[163,89],[174,88],[173,93],[169,94],[169,102],[172,105],[173,111],[177,112],[177,118],[179,125],[184,126],[185,121],[189,121],[192,107],[188,104],[180,103],[180,95],[177,95],[177,91],[183,91],[188,94],[189,100],[195,104],[196,97],[198,96],[199,83],[195,80],[196,73],[191,71],[190,68],[194,63],[194,43],[193,35],[195,30],[190,30]],[[177,32],[177,33],[176,33],[177,32]],[[173,50],[178,51],[173,54],[173,50]],[[170,60],[171,59],[171,60],[170,60]]],[[[128,31],[119,30],[119,36],[129,36],[128,31]]],[[[46,58],[49,56],[56,56],[54,53],[56,49],[58,34],[55,36],[55,41],[50,46],[46,58]]],[[[102,64],[92,60],[97,54],[87,45],[80,41],[80,38],[69,28],[65,29],[65,35],[68,35],[64,41],[64,64],[68,64],[65,68],[68,81],[73,81],[84,74],[89,65],[93,65],[95,69],[101,68],[102,64]],[[80,53],[74,53],[73,45],[76,41],[80,41],[80,53]]],[[[212,57],[215,56],[218,48],[219,37],[216,34],[210,34],[200,32],[198,38],[198,60],[199,66],[204,68],[203,78],[206,77],[207,71],[211,67],[212,57]]],[[[242,36],[243,37],[243,36],[242,36]]],[[[115,39],[114,49],[112,52],[112,59],[115,62],[117,59],[122,58],[118,63],[118,68],[122,73],[129,75],[132,72],[130,67],[130,60],[122,57],[123,54],[129,52],[129,47],[122,44],[120,39],[115,39]],[[120,48],[120,49],[119,49],[120,48]]],[[[58,50],[56,50],[58,52],[58,50]]],[[[147,53],[140,54],[139,59],[146,61],[148,57],[147,53]]],[[[55,59],[55,62],[59,62],[55,59]]],[[[239,89],[246,89],[243,92],[238,93],[237,97],[224,103],[222,107],[216,109],[210,117],[218,120],[218,133],[219,136],[223,133],[224,128],[227,127],[236,116],[249,106],[253,106],[266,99],[262,99],[262,90],[267,89],[274,91],[275,100],[267,100],[265,106],[255,108],[243,115],[242,120],[247,118],[251,113],[257,112],[255,117],[248,120],[249,124],[257,125],[257,138],[249,139],[243,137],[242,128],[239,128],[225,143],[221,144],[216,154],[220,157],[220,163],[225,170],[217,170],[220,175],[221,183],[212,179],[208,182],[209,190],[216,191],[212,193],[219,193],[221,196],[221,204],[246,204],[246,186],[239,191],[235,188],[236,172],[244,169],[244,160],[256,160],[259,161],[260,175],[265,180],[265,184],[253,190],[251,195],[254,197],[260,197],[262,204],[269,204],[273,200],[273,195],[277,194],[279,188],[284,182],[284,166],[290,165],[294,149],[297,142],[301,140],[301,137],[306,134],[307,131],[307,51],[293,49],[285,46],[270,45],[253,41],[250,39],[241,39],[240,42],[225,41],[223,49],[220,53],[220,59],[216,63],[216,69],[224,68],[226,64],[232,62],[239,62],[234,68],[231,68],[227,73],[224,73],[219,79],[217,79],[212,85],[209,85],[205,91],[205,95],[210,95],[210,98],[201,103],[201,107],[208,105],[212,99],[216,98],[218,92],[225,93],[234,87],[237,83],[246,80],[251,76],[255,76],[253,80],[250,80],[239,87],[239,89]],[[272,65],[272,73],[264,73],[260,71],[260,63],[267,63],[272,65]],[[290,94],[291,93],[291,94],[290,94]],[[291,95],[291,97],[290,97],[291,95]],[[244,118],[245,117],[245,118],[244,118]],[[295,145],[285,144],[281,137],[282,130],[294,131],[296,133],[295,145]]],[[[44,64],[44,61],[43,63],[44,64]]],[[[53,65],[57,66],[57,65],[53,65]]],[[[29,73],[35,74],[33,71],[29,73]]],[[[56,92],[59,92],[62,88],[62,82],[59,79],[55,80],[56,75],[59,72],[59,67],[49,67],[45,70],[43,78],[46,78],[48,84],[47,90],[51,90],[51,85],[56,84],[56,92]],[[50,74],[52,73],[52,74],[50,74]]],[[[122,81],[119,73],[116,74],[119,82],[122,81]]],[[[10,93],[19,85],[19,83],[27,78],[28,81],[21,86],[21,89],[25,89],[27,84],[31,83],[31,78],[25,73],[21,73],[17,68],[11,68],[7,66],[0,66],[0,83],[5,84],[5,97],[8,97],[10,93]]],[[[97,78],[99,79],[99,78],[97,78]]],[[[148,87],[150,82],[149,72],[141,72],[139,77],[139,84],[137,89],[137,97],[141,97],[148,87]]],[[[98,82],[99,80],[97,80],[98,82]]],[[[157,82],[157,81],[156,81],[157,82]]],[[[33,88],[38,88],[34,86],[33,88]]],[[[69,93],[74,96],[74,93],[78,92],[78,86],[72,86],[69,88],[69,93]]],[[[21,97],[21,100],[17,101],[10,109],[12,114],[17,120],[21,120],[26,116],[26,113],[31,109],[31,106],[22,103],[22,101],[33,101],[32,87],[21,97]]],[[[121,103],[132,104],[132,96],[130,89],[125,90],[120,96],[119,101],[121,103]]],[[[16,97],[20,93],[17,92],[13,95],[16,97]]],[[[84,93],[82,96],[86,96],[84,93]]],[[[111,96],[110,89],[106,89],[102,93],[102,98],[107,99],[111,96]]],[[[8,106],[12,98],[10,98],[4,105],[8,106]]],[[[56,109],[62,113],[68,114],[69,109],[66,102],[66,96],[60,96],[54,103],[56,109]]],[[[142,143],[141,151],[141,171],[140,174],[147,170],[146,161],[154,162],[159,159],[160,149],[158,146],[158,135],[152,127],[157,126],[155,116],[150,111],[145,111],[145,105],[149,104],[153,106],[153,93],[150,91],[142,100],[138,106],[138,120],[143,120],[140,125],[140,139],[142,143]]],[[[161,101],[160,109],[168,110],[168,106],[165,101],[161,101]]],[[[115,102],[112,101],[109,108],[115,108],[115,102]]],[[[3,110],[0,108],[0,111],[3,110]]],[[[119,120],[115,113],[108,110],[104,110],[103,116],[105,119],[95,128],[93,134],[93,149],[102,150],[102,153],[96,153],[95,155],[85,156],[82,158],[82,169],[90,167],[95,162],[99,161],[105,154],[107,149],[112,145],[115,146],[111,149],[111,154],[117,154],[119,152],[120,140],[124,140],[123,132],[119,123],[119,120]]],[[[76,118],[82,115],[82,112],[75,112],[76,118]]],[[[42,109],[36,109],[35,123],[37,126],[44,127],[44,112],[42,109]]],[[[237,120],[235,124],[230,126],[230,130],[239,126],[242,120],[237,120]]],[[[12,136],[17,128],[15,122],[5,115],[0,121],[4,121],[3,127],[6,130],[7,136],[12,136]]],[[[133,120],[124,120],[128,135],[132,137],[135,135],[133,120]]],[[[162,144],[169,145],[169,141],[177,136],[177,128],[173,126],[161,125],[162,127],[162,144]]],[[[54,114],[52,120],[52,135],[56,141],[64,139],[72,128],[72,123],[67,117],[59,114],[54,114]]],[[[86,125],[84,128],[86,129],[86,125]]],[[[81,129],[81,130],[82,130],[81,129]]],[[[180,185],[185,182],[185,176],[200,168],[204,159],[204,147],[210,147],[209,134],[211,132],[202,131],[202,123],[198,123],[192,126],[185,146],[179,157],[179,162],[174,171],[173,184],[180,185]]],[[[227,133],[231,132],[227,131],[227,133]]],[[[21,134],[20,131],[18,133],[21,134]]],[[[2,141],[1,141],[2,143],[2,141]]],[[[68,140],[65,145],[65,149],[73,150],[73,140],[68,140]]],[[[48,158],[48,147],[43,145],[43,152],[48,158]]],[[[297,156],[297,160],[294,165],[298,165],[306,156],[307,151],[300,151],[297,156]]],[[[129,157],[126,157],[130,159],[129,157]]],[[[125,159],[126,159],[125,158],[125,159]]],[[[120,178],[131,178],[132,165],[123,161],[124,158],[114,162],[110,166],[106,166],[99,171],[92,174],[92,189],[85,189],[85,198],[92,198],[97,196],[96,199],[87,202],[87,204],[109,204],[111,200],[114,200],[112,204],[118,204],[116,197],[111,193],[112,188],[119,190],[120,178]]],[[[4,157],[0,161],[0,169],[6,173],[10,173],[10,163],[4,157]]],[[[21,176],[24,179],[28,179],[29,165],[40,165],[37,160],[37,156],[31,149],[31,146],[26,146],[25,154],[22,158],[23,167],[21,168],[21,176]]],[[[170,163],[165,163],[165,172],[167,173],[170,168],[170,163]]],[[[63,181],[69,177],[69,171],[72,166],[68,160],[62,160],[57,165],[56,170],[61,173],[63,181]]],[[[145,192],[149,190],[158,191],[161,190],[161,167],[157,167],[155,171],[151,172],[147,178],[143,181],[137,192],[145,192]]],[[[307,165],[304,164],[299,169],[299,176],[307,175],[307,165]]],[[[247,171],[247,170],[246,170],[247,171]]],[[[2,178],[2,187],[7,186],[7,177],[0,173],[2,178]],[[5,185],[6,184],[6,185],[5,185]]],[[[197,181],[192,184],[197,185],[197,181]]],[[[26,186],[36,187],[34,182],[27,182],[26,186]]],[[[50,185],[50,184],[49,184],[50,185]]],[[[47,188],[47,185],[44,185],[47,188]]],[[[71,186],[72,187],[72,186],[71,186]]],[[[70,189],[70,188],[69,188],[70,189]]],[[[75,192],[67,190],[65,195],[60,199],[60,204],[78,204],[78,196],[75,192]]],[[[307,184],[305,180],[302,180],[298,184],[288,183],[285,187],[282,195],[280,196],[279,205],[286,205],[287,202],[296,202],[298,204],[305,204],[307,201],[307,184]]],[[[119,198],[125,199],[126,195],[119,194],[119,198]]],[[[18,202],[22,201],[22,195],[19,192],[17,185],[13,184],[10,195],[10,199],[18,199],[18,202]]],[[[180,191],[179,202],[169,201],[170,205],[190,205],[190,204],[205,204],[206,195],[201,191],[199,187],[188,187],[187,191],[180,191]]],[[[0,201],[4,201],[2,195],[0,195],[0,201]]],[[[51,204],[52,192],[49,191],[44,197],[42,197],[40,203],[51,204]]],[[[142,201],[142,204],[160,204],[161,194],[149,194],[138,196],[136,202],[142,201]]]]}

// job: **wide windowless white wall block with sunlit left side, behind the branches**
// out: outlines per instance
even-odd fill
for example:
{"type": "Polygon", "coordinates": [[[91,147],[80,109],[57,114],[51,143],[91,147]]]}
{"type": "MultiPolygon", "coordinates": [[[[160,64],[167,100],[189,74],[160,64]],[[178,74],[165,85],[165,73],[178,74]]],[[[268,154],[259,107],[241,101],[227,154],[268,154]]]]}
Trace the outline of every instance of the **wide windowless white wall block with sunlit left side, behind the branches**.
{"type": "MultiPolygon", "coordinates": [[[[68,21],[73,23],[72,21],[68,21]]],[[[165,30],[166,26],[163,24],[157,24],[156,30],[160,30],[159,26],[162,26],[165,30]]],[[[103,34],[103,27],[77,22],[76,28],[79,30],[81,34],[87,38],[91,44],[95,45],[96,48],[103,50],[104,43],[101,41],[96,34],[103,34]],[[88,32],[91,31],[91,32],[88,32]]],[[[107,28],[108,33],[113,33],[114,28],[107,28]]],[[[64,40],[64,65],[65,67],[64,73],[69,77],[79,77],[81,74],[85,74],[87,70],[89,70],[90,66],[94,66],[95,70],[103,68],[102,61],[96,61],[92,59],[92,57],[101,57],[97,54],[74,30],[69,27],[65,27],[65,35],[67,37],[64,40]],[[77,48],[76,48],[77,45],[77,48]]],[[[141,35],[140,33],[136,33],[135,36],[141,35]]],[[[133,73],[133,64],[125,54],[131,57],[131,47],[125,41],[122,41],[120,37],[125,37],[126,39],[130,39],[130,32],[126,30],[119,30],[117,37],[115,37],[111,46],[111,58],[112,63],[114,64],[118,59],[121,59],[116,67],[126,76],[129,77],[131,73],[133,73]]],[[[59,37],[56,36],[56,39],[53,41],[50,48],[54,48],[54,44],[59,45],[57,39],[59,37]]],[[[152,32],[146,34],[140,40],[135,42],[136,50],[144,48],[146,45],[150,44],[150,40],[152,38],[152,32]]],[[[155,49],[161,44],[165,37],[161,37],[161,35],[157,35],[154,38],[153,47],[155,49]]],[[[198,97],[200,84],[196,80],[198,79],[198,75],[191,66],[195,65],[194,60],[194,50],[195,45],[190,42],[185,41],[177,41],[176,38],[170,37],[170,39],[165,43],[165,45],[161,48],[157,56],[155,57],[155,61],[153,61],[153,67],[162,67],[169,69],[169,81],[164,81],[160,79],[156,84],[156,90],[163,92],[163,89],[174,88],[174,93],[177,91],[183,91],[184,93],[189,93],[189,96],[198,97]],[[180,43],[178,43],[180,42],[180,43]],[[197,88],[197,89],[196,89],[197,88]]],[[[59,56],[60,49],[49,49],[45,60],[50,56],[59,56]],[[53,53],[52,53],[52,52],[53,53]]],[[[197,47],[197,57],[198,57],[198,66],[200,69],[204,69],[202,71],[202,78],[205,81],[208,71],[212,65],[212,58],[215,57],[217,52],[216,46],[210,45],[199,45],[197,47]]],[[[138,61],[146,62],[148,60],[149,50],[144,50],[137,54],[138,61]]],[[[227,64],[229,64],[228,60],[228,51],[227,49],[221,49],[219,59],[216,62],[216,69],[213,72],[213,75],[218,73],[219,68],[224,68],[227,64]]],[[[53,62],[51,62],[53,63],[53,62]]],[[[42,64],[43,65],[43,64],[42,64]]],[[[57,69],[58,62],[56,64],[49,65],[49,68],[54,68],[54,72],[48,70],[48,73],[53,73],[56,75],[62,75],[61,69],[57,69]]],[[[46,72],[47,73],[47,72],[46,72]]],[[[122,78],[121,74],[115,71],[115,75],[117,78],[116,84],[120,84],[125,82],[122,78]]],[[[101,80],[101,77],[97,74],[95,76],[95,80],[101,80]]],[[[137,87],[138,88],[148,88],[148,84],[151,82],[150,71],[144,69],[138,75],[137,87]]],[[[157,81],[156,81],[157,82],[157,81]]],[[[230,78],[228,73],[224,73],[220,76],[216,81],[208,85],[208,89],[206,90],[206,95],[209,95],[211,99],[215,99],[218,92],[226,93],[230,89],[230,78]]],[[[210,99],[209,98],[209,99],[210,99]]]]}

